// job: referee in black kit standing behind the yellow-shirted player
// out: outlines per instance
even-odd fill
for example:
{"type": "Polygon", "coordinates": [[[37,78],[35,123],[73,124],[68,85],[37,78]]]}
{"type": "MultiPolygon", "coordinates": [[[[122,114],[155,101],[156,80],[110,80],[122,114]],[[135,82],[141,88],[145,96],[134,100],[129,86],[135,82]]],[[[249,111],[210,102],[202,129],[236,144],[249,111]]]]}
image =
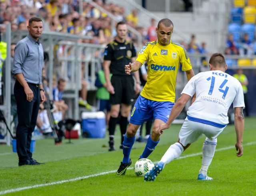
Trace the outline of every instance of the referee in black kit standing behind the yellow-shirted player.
{"type": "Polygon", "coordinates": [[[107,89],[110,93],[111,104],[110,120],[108,125],[109,151],[115,150],[114,133],[120,111],[121,117],[119,123],[122,134],[120,149],[122,149],[122,143],[124,141],[124,135],[128,125],[127,118],[130,115],[132,108],[132,98],[134,97],[134,94],[138,94],[140,92],[140,76],[138,71],[133,72],[136,83],[132,75],[127,75],[124,71],[124,65],[128,65],[130,62],[134,62],[136,60],[136,50],[134,45],[132,42],[125,40],[127,32],[126,23],[118,22],[116,25],[117,35],[115,40],[108,44],[104,52],[103,68],[107,89]],[[110,73],[112,73],[111,81],[109,78],[110,73]]]}

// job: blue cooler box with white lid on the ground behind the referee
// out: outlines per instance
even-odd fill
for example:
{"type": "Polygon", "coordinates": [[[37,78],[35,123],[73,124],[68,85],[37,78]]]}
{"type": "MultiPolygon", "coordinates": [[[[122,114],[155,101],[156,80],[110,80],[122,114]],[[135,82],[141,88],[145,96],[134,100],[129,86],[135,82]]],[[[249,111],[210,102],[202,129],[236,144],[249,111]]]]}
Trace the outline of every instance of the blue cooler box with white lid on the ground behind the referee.
{"type": "Polygon", "coordinates": [[[106,135],[106,116],[102,111],[82,112],[83,137],[102,138],[106,135]]]}

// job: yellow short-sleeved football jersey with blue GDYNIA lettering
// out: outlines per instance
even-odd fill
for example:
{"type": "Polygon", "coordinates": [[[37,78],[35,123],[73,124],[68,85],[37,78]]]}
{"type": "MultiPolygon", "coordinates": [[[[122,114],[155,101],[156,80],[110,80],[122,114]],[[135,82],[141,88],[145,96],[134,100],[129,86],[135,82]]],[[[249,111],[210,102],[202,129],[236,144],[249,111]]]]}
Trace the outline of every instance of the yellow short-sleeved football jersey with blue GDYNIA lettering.
{"type": "Polygon", "coordinates": [[[176,76],[180,63],[182,71],[192,69],[186,49],[171,41],[161,46],[157,41],[142,47],[136,61],[148,63],[148,78],[141,95],[153,101],[175,101],[176,76]]]}

